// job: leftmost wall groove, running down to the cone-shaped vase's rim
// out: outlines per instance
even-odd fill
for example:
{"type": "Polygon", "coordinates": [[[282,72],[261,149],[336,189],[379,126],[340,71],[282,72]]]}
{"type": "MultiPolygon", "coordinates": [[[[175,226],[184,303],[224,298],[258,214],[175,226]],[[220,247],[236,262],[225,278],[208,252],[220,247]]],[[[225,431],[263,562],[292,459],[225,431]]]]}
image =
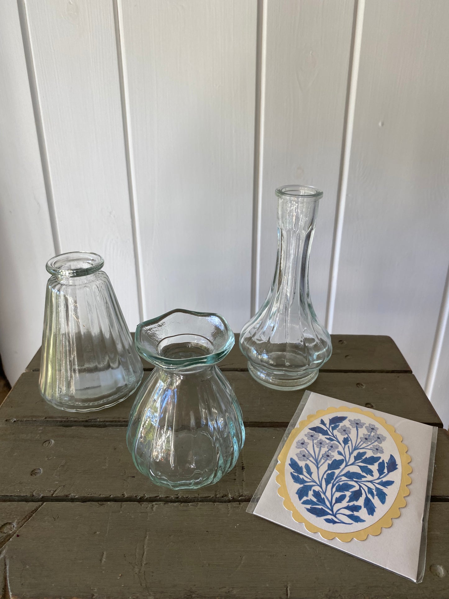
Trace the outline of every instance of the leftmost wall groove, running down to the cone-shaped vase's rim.
{"type": "MultiPolygon", "coordinates": [[[[50,216],[54,253],[60,254],[61,244],[59,238],[59,229],[57,227],[56,210],[54,208],[53,188],[51,187],[50,167],[48,165],[47,146],[45,144],[44,125],[39,102],[25,0],[17,0],[17,10],[19,12],[20,31],[22,33],[23,50],[25,52],[26,71],[28,73],[28,83],[33,106],[34,121],[36,125],[39,153],[41,156],[42,173],[45,186],[45,195],[47,196],[47,207],[48,215],[50,216]]],[[[48,258],[51,258],[51,256],[48,256],[48,258]]]]}

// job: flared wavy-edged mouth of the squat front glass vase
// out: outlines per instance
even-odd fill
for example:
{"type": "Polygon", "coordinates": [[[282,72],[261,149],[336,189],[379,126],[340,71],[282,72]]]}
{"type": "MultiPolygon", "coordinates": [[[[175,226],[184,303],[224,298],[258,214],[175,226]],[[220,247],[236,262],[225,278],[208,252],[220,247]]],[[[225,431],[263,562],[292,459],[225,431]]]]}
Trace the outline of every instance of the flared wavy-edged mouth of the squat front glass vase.
{"type": "Polygon", "coordinates": [[[171,369],[216,364],[233,344],[234,334],[223,316],[179,308],[141,322],[135,334],[142,358],[171,369]]]}

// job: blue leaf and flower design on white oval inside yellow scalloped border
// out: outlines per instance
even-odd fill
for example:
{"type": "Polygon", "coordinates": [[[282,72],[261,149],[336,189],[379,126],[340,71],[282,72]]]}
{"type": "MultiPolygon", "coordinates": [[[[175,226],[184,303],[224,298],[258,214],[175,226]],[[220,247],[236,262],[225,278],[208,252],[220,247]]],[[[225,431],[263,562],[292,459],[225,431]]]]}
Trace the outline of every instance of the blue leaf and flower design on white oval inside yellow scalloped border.
{"type": "Polygon", "coordinates": [[[298,485],[296,495],[307,512],[328,524],[366,522],[387,500],[398,470],[395,456],[382,459],[380,446],[386,441],[372,423],[347,416],[321,418],[296,441],[296,458],[290,458],[290,476],[298,485]],[[365,431],[360,429],[365,426],[365,431]],[[311,443],[310,443],[311,441],[311,443]],[[301,462],[303,465],[301,465],[301,462]]]}

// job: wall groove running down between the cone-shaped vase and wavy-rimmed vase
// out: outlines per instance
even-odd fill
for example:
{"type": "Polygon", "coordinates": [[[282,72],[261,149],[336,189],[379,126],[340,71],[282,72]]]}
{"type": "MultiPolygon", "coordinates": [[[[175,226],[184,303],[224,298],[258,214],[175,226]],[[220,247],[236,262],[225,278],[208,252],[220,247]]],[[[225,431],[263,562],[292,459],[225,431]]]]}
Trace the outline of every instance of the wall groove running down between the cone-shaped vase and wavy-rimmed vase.
{"type": "Polygon", "coordinates": [[[117,63],[119,65],[120,101],[122,102],[123,138],[125,141],[126,174],[128,178],[129,205],[131,209],[132,238],[134,244],[134,260],[137,281],[137,297],[139,305],[139,319],[145,320],[146,302],[144,291],[144,275],[142,270],[142,244],[139,228],[139,211],[135,198],[135,168],[134,153],[132,151],[132,132],[129,125],[129,86],[126,62],[123,60],[122,46],[123,10],[121,0],[113,0],[114,26],[116,29],[117,63]]]}

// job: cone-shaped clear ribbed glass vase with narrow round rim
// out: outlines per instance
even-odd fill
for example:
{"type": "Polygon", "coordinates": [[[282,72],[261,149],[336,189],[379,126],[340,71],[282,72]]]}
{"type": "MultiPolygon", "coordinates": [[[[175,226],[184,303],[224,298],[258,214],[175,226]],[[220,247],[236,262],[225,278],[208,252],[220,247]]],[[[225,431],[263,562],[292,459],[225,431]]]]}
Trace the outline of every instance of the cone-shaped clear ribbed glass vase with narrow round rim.
{"type": "Polygon", "coordinates": [[[101,410],[123,401],[143,368],[98,254],[69,252],[47,262],[39,387],[68,412],[101,410]]]}

